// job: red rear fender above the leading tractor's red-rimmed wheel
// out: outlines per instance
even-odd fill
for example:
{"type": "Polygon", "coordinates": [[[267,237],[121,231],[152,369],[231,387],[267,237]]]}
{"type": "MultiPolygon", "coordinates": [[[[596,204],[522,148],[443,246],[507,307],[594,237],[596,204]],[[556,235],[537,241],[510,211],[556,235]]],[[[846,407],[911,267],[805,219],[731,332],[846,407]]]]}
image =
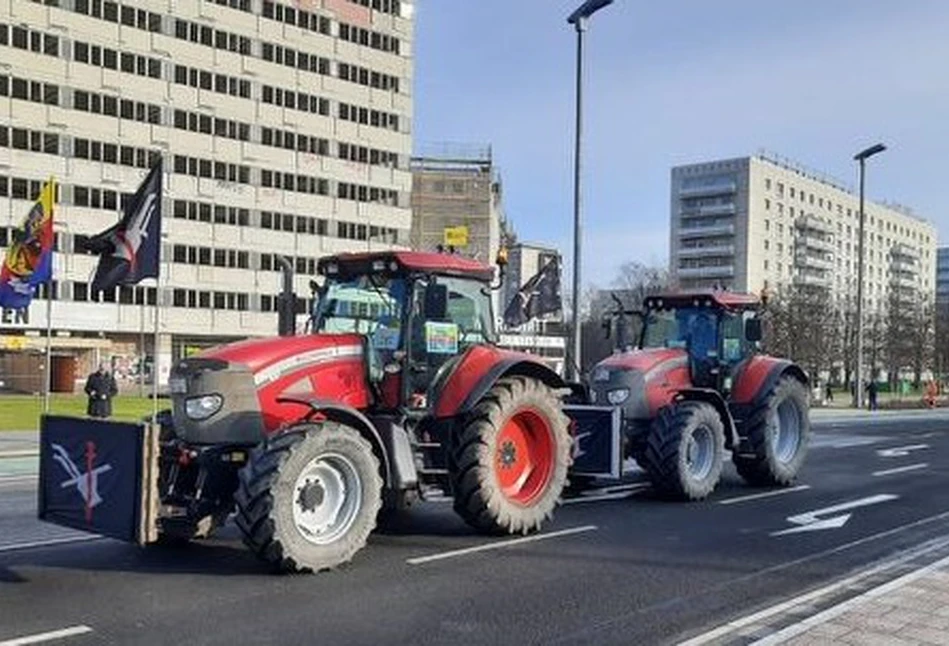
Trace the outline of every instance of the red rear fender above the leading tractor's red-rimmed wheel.
{"type": "Polygon", "coordinates": [[[464,411],[466,402],[480,398],[498,378],[509,372],[531,374],[551,385],[560,378],[536,356],[502,350],[490,345],[468,348],[450,368],[442,384],[435,387],[432,402],[435,417],[452,417],[464,411]]]}

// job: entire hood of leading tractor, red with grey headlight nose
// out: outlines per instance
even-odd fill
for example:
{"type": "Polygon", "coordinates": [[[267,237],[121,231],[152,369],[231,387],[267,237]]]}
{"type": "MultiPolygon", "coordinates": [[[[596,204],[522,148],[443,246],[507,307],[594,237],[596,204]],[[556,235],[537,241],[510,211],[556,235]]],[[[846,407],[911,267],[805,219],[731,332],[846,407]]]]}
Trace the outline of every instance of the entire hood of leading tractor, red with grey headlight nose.
{"type": "Polygon", "coordinates": [[[169,376],[175,434],[196,444],[254,444],[310,408],[285,398],[368,403],[363,339],[312,334],[248,339],[174,364],[169,376]]]}

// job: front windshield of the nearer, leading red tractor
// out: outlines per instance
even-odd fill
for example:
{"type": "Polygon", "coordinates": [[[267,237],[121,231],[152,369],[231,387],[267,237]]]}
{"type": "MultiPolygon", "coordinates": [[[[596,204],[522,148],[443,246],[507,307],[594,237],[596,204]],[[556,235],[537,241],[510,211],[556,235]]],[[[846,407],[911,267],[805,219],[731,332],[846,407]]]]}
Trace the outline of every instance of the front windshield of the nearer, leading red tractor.
{"type": "Polygon", "coordinates": [[[331,281],[316,311],[317,332],[365,334],[380,350],[396,350],[401,342],[404,278],[358,276],[331,281]]]}

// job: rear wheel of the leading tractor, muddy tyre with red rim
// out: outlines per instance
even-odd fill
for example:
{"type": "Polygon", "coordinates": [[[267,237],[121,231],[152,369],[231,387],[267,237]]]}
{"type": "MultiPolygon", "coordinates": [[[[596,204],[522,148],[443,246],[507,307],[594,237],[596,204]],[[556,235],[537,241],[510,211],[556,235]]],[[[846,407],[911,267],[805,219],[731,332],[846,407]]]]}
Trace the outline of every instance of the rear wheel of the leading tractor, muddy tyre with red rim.
{"type": "Polygon", "coordinates": [[[499,379],[455,437],[455,511],[486,534],[540,529],[567,484],[571,450],[569,419],[548,386],[529,377],[499,379]],[[526,473],[523,483],[505,488],[518,473],[526,473]]]}

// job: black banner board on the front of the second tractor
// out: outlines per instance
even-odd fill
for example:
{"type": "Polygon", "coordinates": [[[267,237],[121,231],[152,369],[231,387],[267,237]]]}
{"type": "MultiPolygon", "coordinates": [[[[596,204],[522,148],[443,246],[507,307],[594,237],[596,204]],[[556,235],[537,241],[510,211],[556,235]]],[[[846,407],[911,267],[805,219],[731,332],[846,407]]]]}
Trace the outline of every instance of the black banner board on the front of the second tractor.
{"type": "Polygon", "coordinates": [[[619,478],[622,475],[622,411],[612,406],[565,406],[573,434],[577,475],[619,478]]]}

